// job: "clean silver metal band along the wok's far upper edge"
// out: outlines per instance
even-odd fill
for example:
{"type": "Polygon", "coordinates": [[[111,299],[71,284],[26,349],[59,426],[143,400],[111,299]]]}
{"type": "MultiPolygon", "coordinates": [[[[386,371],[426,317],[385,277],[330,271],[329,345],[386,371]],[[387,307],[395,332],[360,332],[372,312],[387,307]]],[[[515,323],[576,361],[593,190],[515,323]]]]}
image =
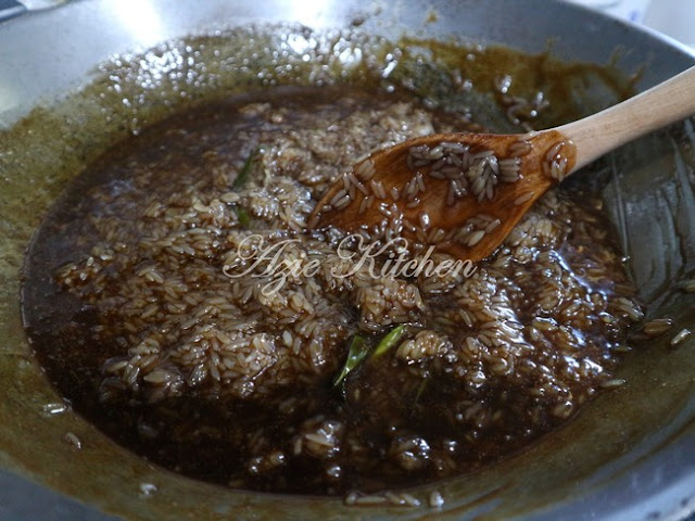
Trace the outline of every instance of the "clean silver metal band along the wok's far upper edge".
{"type": "Polygon", "coordinates": [[[529,52],[546,50],[553,39],[558,58],[594,63],[608,63],[616,49],[622,48],[626,55],[621,67],[634,71],[648,64],[641,88],[653,86],[692,63],[691,51],[684,46],[674,50],[671,42],[648,30],[637,30],[581,7],[533,0],[501,3],[504,5],[476,0],[439,2],[438,22],[424,26],[425,13],[432,2],[422,0],[400,0],[388,8],[364,0],[78,0],[55,10],[25,14],[2,26],[0,124],[12,123],[41,97],[85,85],[94,66],[115,53],[144,50],[184,35],[258,22],[292,21],[321,29],[346,26],[357,16],[366,15],[364,28],[387,37],[417,28],[420,35],[455,34],[529,52]],[[491,12],[495,13],[493,17],[491,12]],[[656,60],[662,53],[668,54],[668,61],[656,60]]]}

